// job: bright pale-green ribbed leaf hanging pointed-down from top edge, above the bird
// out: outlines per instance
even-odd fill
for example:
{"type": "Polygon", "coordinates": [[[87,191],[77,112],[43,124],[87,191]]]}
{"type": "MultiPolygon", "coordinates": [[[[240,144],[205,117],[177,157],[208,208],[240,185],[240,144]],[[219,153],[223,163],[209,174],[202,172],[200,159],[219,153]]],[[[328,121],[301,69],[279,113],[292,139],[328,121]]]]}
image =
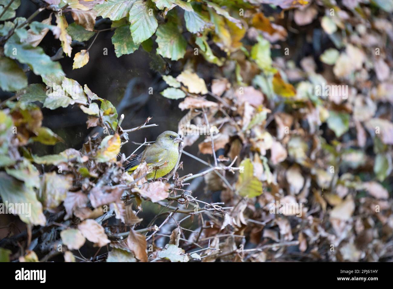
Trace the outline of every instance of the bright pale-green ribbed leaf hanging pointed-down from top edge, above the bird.
{"type": "Polygon", "coordinates": [[[135,43],[141,43],[149,39],[158,27],[153,9],[149,6],[149,2],[143,0],[137,0],[134,3],[130,10],[129,20],[132,40],[135,43]]]}

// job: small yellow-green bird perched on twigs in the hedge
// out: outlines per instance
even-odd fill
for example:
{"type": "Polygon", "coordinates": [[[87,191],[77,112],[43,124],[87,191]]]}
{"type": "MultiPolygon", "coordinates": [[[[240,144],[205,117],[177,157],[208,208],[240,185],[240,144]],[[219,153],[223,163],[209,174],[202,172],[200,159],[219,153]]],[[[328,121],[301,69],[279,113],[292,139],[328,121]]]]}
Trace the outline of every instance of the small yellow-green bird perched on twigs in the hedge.
{"type": "Polygon", "coordinates": [[[182,138],[173,131],[164,131],[157,136],[156,142],[149,145],[125,167],[129,173],[135,171],[144,160],[148,166],[160,167],[146,175],[147,179],[158,179],[169,173],[176,165],[179,156],[179,143],[182,138]],[[166,162],[166,165],[165,165],[166,162]]]}

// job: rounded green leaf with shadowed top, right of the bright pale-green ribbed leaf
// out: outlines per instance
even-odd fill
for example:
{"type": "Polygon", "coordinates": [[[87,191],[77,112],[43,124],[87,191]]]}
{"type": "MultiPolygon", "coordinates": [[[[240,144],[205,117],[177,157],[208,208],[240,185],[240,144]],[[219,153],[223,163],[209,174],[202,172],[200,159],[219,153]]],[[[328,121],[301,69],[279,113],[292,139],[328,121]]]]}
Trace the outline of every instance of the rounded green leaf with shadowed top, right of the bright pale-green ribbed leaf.
{"type": "Polygon", "coordinates": [[[176,23],[167,22],[156,32],[158,43],[157,53],[171,60],[178,60],[185,54],[187,41],[178,30],[176,23]]]}

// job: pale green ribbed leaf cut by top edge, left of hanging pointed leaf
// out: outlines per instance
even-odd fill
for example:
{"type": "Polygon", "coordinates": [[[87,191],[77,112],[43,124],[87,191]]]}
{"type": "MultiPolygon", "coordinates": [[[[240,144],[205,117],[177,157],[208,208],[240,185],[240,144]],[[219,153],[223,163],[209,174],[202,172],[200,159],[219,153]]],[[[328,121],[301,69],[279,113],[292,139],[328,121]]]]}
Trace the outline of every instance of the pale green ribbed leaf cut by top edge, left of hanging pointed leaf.
{"type": "Polygon", "coordinates": [[[98,12],[97,16],[102,16],[102,18],[120,20],[123,17],[127,17],[135,1],[136,0],[108,0],[103,4],[95,5],[94,10],[98,12]]]}

